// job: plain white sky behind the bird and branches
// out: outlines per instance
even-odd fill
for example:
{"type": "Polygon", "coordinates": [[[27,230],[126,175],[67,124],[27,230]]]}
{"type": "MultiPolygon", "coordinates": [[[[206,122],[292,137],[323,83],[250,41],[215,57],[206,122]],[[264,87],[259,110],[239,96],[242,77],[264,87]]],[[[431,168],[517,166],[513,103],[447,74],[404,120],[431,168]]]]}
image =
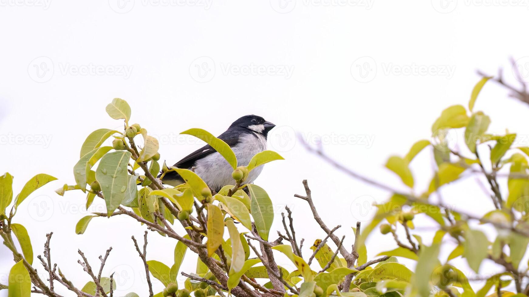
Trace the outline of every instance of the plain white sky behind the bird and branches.
{"type": "MultiPolygon", "coordinates": [[[[75,224],[87,214],[85,195],[53,193],[74,183],[72,167],[90,132],[121,127],[105,112],[112,98],[130,103],[131,121],[160,139],[162,160],[168,164],[200,146],[178,136],[188,128],[218,135],[249,113],[276,123],[270,149],[286,160],[266,165],[257,184],[279,210],[284,205],[294,210],[297,237],[305,238],[308,257],[308,247],[324,233],[306,203],[293,197],[303,194],[303,179],[308,179],[326,223],[342,225],[337,233],[348,235],[348,247],[350,226],[365,219],[358,204],[381,202],[388,194],[315,159],[295,142],[294,131],[309,139],[325,137],[329,155],[358,173],[404,189],[384,169],[387,158],[404,155],[413,142],[427,139],[442,109],[466,106],[479,80],[477,69],[494,74],[504,67],[506,78],[513,80],[508,56],[525,57],[521,63],[529,60],[522,29],[529,7],[515,0],[129,0],[124,6],[116,1],[0,0],[0,152],[1,173],[15,177],[15,194],[35,174],[59,179],[35,191],[14,219],[28,228],[34,266],[43,271],[36,256],[42,253],[45,233],[53,231],[53,261],[80,288],[89,276],[76,263],[77,248],[98,266],[97,257],[112,246],[104,274],[116,272],[118,296],[147,295],[141,259],[130,239],[141,238],[144,227],[127,217],[95,218],[84,235],[76,235],[75,224]],[[410,69],[412,73],[403,74],[410,69]]],[[[519,133],[520,145],[529,145],[528,107],[507,99],[505,90],[487,84],[476,110],[489,114],[491,131],[508,128],[519,133]]],[[[431,158],[425,152],[412,164],[417,192],[432,176],[431,158]]],[[[492,209],[474,178],[443,195],[467,212],[492,209]]],[[[89,211],[103,209],[96,201],[89,211]]],[[[279,210],[274,230],[281,227],[279,210]]],[[[424,225],[433,224],[424,220],[424,225]]],[[[276,238],[275,231],[271,234],[276,238]]],[[[430,238],[425,235],[425,240],[430,238]]],[[[171,266],[175,244],[150,233],[148,260],[171,266]]],[[[369,256],[395,247],[389,235],[373,235],[369,256]]],[[[443,257],[449,252],[443,251],[443,257]]],[[[196,258],[188,255],[180,271],[194,272],[196,258]]],[[[7,283],[12,264],[7,248],[0,246],[1,283],[7,283]]],[[[485,265],[488,272],[497,270],[485,265]]],[[[162,289],[154,283],[155,293],[162,289]]]]}

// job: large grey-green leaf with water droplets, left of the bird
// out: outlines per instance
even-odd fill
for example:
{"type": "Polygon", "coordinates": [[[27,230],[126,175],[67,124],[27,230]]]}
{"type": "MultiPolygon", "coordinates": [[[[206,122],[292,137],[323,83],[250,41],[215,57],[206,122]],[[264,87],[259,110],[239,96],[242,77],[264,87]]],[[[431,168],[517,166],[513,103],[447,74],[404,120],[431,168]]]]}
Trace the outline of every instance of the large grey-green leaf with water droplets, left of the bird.
{"type": "Polygon", "coordinates": [[[130,157],[129,151],[114,151],[103,156],[97,167],[96,180],[101,185],[108,217],[125,198],[129,185],[127,165],[130,157]]]}

